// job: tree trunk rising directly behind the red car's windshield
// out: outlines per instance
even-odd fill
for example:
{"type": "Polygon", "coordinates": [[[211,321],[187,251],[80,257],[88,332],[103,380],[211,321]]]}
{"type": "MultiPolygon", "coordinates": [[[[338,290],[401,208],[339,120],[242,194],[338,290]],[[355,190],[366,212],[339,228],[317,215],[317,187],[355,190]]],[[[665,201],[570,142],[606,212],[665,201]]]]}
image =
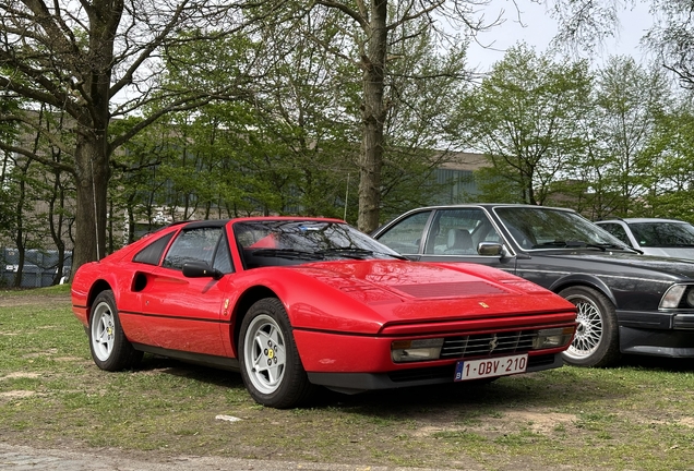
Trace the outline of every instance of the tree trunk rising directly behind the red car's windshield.
{"type": "Polygon", "coordinates": [[[359,218],[357,226],[364,232],[379,227],[381,206],[381,167],[383,166],[383,126],[386,108],[385,53],[387,48],[387,1],[374,0],[371,7],[367,56],[363,67],[363,141],[359,157],[359,218]]]}

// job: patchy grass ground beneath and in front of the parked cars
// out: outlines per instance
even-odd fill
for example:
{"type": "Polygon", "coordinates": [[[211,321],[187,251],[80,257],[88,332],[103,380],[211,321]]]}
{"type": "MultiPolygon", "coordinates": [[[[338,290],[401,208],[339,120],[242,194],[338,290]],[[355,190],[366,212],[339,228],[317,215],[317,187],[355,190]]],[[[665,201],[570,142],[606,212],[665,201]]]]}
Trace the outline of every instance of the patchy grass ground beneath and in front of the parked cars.
{"type": "Polygon", "coordinates": [[[145,355],[106,373],[89,358],[65,288],[0,291],[0,436],[5,443],[147,456],[229,456],[361,466],[686,470],[694,365],[636,359],[357,396],[304,409],[252,401],[239,374],[145,355]],[[49,290],[50,291],[50,290],[49,290]],[[50,303],[41,302],[44,294],[50,303]],[[5,298],[7,299],[7,298],[5,298]],[[241,421],[215,419],[231,415],[241,421]]]}

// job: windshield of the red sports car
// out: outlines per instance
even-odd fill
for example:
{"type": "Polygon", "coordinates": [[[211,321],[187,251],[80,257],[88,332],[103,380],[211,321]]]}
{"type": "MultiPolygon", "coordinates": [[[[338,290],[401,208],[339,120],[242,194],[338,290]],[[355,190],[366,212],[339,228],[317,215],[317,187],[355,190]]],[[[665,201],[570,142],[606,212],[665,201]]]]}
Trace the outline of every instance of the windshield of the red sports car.
{"type": "Polygon", "coordinates": [[[307,220],[236,222],[243,266],[296,265],[325,259],[404,258],[347,224],[307,220]]]}

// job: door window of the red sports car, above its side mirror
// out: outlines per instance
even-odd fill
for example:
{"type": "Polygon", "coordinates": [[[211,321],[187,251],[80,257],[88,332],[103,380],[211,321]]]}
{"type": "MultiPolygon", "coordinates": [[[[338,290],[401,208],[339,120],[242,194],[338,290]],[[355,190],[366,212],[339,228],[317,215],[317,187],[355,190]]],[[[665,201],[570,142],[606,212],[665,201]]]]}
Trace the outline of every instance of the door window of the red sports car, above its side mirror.
{"type": "Polygon", "coordinates": [[[161,266],[179,270],[183,269],[187,262],[205,262],[212,266],[222,232],[220,227],[182,230],[174,240],[161,266]]]}

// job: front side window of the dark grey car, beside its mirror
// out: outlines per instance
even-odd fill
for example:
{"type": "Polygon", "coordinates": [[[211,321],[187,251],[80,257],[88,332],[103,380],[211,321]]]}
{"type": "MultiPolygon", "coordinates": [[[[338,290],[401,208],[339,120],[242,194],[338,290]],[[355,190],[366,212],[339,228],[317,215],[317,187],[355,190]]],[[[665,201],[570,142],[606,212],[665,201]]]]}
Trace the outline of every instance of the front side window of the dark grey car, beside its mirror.
{"type": "Polygon", "coordinates": [[[499,232],[482,209],[440,209],[429,229],[424,253],[477,255],[480,242],[501,242],[499,232]]]}

